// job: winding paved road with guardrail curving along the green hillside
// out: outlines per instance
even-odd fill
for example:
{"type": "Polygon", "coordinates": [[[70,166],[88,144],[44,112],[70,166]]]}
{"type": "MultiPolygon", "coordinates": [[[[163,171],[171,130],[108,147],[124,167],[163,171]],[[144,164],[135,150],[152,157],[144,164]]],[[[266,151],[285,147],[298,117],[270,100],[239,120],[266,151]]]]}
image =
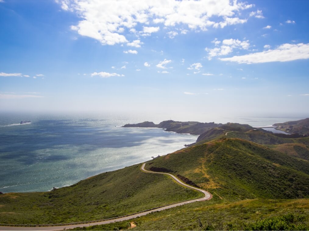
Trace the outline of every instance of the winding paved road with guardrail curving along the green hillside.
{"type": "Polygon", "coordinates": [[[61,226],[49,226],[49,227],[19,227],[19,226],[18,227],[12,227],[12,226],[0,226],[0,231],[3,231],[3,230],[10,230],[10,231],[11,230],[27,230],[27,231],[29,231],[29,230],[44,230],[44,231],[45,230],[63,230],[64,228],[65,229],[73,229],[73,228],[76,228],[76,227],[84,227],[84,226],[90,226],[90,225],[103,225],[103,224],[108,224],[108,223],[112,223],[112,222],[116,222],[116,221],[130,220],[130,219],[133,219],[133,218],[136,218],[136,217],[144,216],[144,215],[146,215],[148,213],[151,213],[151,212],[162,211],[164,209],[173,208],[173,207],[176,207],[176,206],[179,206],[179,205],[185,205],[185,204],[192,203],[192,202],[195,202],[195,201],[206,201],[206,200],[210,200],[212,198],[212,195],[209,192],[207,192],[207,191],[205,191],[203,189],[200,189],[200,188],[192,187],[192,186],[190,186],[188,184],[184,184],[176,176],[174,176],[172,174],[164,173],[164,172],[148,171],[148,170],[145,169],[145,163],[142,165],[141,169],[144,172],[169,175],[174,180],[176,180],[179,184],[182,184],[185,187],[192,188],[192,189],[195,189],[197,191],[200,191],[200,192],[204,193],[205,197],[202,197],[202,198],[199,198],[199,199],[193,199],[193,200],[190,200],[190,201],[184,201],[184,202],[180,202],[180,203],[173,204],[173,205],[167,205],[167,206],[164,206],[164,207],[161,207],[161,208],[158,208],[158,209],[152,209],[152,210],[149,210],[147,212],[142,212],[142,213],[138,213],[138,214],[131,215],[131,216],[128,216],[128,217],[121,217],[121,218],[117,218],[117,219],[113,219],[113,220],[109,220],[109,221],[100,221],[100,222],[94,222],[94,223],[88,223],[88,224],[79,224],[79,225],[61,225],[61,226]]]}

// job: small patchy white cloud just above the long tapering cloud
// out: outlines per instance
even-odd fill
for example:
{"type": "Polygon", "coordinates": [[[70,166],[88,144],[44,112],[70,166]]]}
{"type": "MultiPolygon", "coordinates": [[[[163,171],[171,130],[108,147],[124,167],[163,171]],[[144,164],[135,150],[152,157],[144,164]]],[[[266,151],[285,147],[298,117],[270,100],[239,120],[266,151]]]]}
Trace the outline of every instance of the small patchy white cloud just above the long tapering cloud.
{"type": "MultiPolygon", "coordinates": [[[[213,41],[214,43],[217,42],[217,44],[219,44],[217,40],[214,41],[213,41]]],[[[224,39],[220,47],[215,47],[213,49],[206,47],[205,51],[208,52],[208,59],[211,60],[215,56],[230,54],[234,48],[248,50],[249,47],[250,47],[249,40],[240,41],[238,39],[224,39]]]]}

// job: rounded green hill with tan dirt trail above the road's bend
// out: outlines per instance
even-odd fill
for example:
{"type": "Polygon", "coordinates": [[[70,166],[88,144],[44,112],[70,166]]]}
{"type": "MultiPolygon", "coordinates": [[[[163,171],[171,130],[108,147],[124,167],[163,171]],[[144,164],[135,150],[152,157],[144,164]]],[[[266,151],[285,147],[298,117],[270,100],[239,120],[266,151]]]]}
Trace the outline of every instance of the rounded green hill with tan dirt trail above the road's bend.
{"type": "Polygon", "coordinates": [[[309,196],[309,162],[240,139],[195,145],[151,161],[226,200],[309,196]]]}

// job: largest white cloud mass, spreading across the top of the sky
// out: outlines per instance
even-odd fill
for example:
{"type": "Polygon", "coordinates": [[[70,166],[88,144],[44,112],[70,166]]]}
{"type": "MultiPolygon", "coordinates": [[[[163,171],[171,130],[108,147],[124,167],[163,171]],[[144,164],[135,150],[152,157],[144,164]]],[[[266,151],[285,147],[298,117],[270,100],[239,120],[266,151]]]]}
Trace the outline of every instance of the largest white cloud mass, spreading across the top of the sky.
{"type": "MultiPolygon", "coordinates": [[[[143,35],[157,32],[159,27],[148,26],[151,22],[163,23],[165,27],[183,27],[205,31],[208,27],[224,27],[244,23],[240,19],[243,10],[253,7],[244,2],[217,1],[147,1],[136,0],[56,0],[65,11],[76,13],[80,21],[71,29],[82,36],[100,41],[103,45],[127,43],[126,28],[136,33],[136,26],[144,26],[143,35]],[[158,29],[149,29],[158,28],[158,29]],[[134,31],[133,31],[134,29],[134,31]]],[[[258,16],[256,16],[258,17],[258,16]]]]}

